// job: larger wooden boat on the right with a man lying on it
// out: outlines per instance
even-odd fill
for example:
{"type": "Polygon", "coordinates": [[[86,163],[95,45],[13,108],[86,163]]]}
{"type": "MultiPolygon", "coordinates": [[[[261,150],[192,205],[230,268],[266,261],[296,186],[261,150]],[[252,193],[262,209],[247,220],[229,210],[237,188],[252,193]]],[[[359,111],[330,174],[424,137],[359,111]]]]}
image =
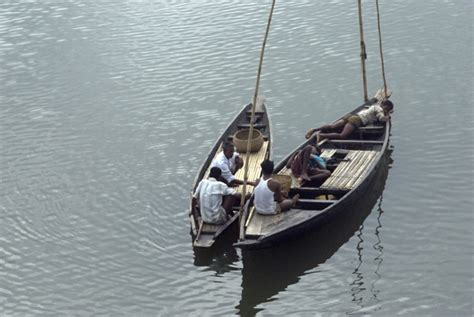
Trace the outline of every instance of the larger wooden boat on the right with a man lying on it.
{"type": "MultiPolygon", "coordinates": [[[[381,98],[381,93],[378,93],[381,98]]],[[[350,113],[356,114],[380,99],[374,98],[350,113]]],[[[337,120],[336,120],[337,121],[337,120]]],[[[389,141],[390,122],[360,127],[348,139],[322,141],[321,156],[333,159],[328,165],[331,176],[320,186],[292,183],[290,196],[300,194],[296,207],[277,215],[260,215],[253,207],[253,197],[248,200],[240,225],[239,242],[242,249],[257,249],[277,245],[304,232],[317,230],[331,215],[351,212],[351,206],[366,195],[368,184],[380,167],[389,141]]],[[[314,144],[314,136],[300,144],[275,166],[275,174],[291,175],[285,167],[297,150],[314,144]]]]}

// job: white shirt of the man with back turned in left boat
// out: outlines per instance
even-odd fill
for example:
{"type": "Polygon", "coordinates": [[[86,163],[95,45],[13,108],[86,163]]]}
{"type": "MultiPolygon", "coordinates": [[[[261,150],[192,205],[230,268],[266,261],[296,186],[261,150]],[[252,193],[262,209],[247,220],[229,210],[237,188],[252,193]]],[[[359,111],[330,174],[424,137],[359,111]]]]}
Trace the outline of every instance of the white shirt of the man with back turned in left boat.
{"type": "Polygon", "coordinates": [[[202,220],[213,224],[225,222],[227,216],[222,207],[222,197],[233,194],[234,189],[213,177],[202,180],[193,194],[193,197],[199,200],[202,220]]]}

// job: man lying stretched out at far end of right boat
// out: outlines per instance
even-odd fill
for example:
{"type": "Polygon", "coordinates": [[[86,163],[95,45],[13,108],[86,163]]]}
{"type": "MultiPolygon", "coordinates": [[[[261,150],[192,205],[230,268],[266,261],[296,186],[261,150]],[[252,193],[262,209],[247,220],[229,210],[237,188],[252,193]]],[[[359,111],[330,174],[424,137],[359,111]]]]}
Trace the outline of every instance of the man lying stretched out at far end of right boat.
{"type": "Polygon", "coordinates": [[[386,122],[393,113],[393,103],[384,100],[380,105],[373,105],[367,109],[359,111],[357,114],[348,114],[333,124],[324,125],[318,129],[309,129],[305,137],[309,139],[316,133],[317,144],[324,139],[346,139],[355,129],[376,122],[386,122]],[[326,131],[340,130],[342,132],[326,133],[326,131]]]}

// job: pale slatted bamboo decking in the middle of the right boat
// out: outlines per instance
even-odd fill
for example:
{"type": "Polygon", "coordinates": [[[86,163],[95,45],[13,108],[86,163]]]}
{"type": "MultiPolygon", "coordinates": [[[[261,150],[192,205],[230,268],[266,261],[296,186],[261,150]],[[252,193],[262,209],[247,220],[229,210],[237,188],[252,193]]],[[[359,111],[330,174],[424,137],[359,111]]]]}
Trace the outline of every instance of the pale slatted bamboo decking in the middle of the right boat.
{"type": "Polygon", "coordinates": [[[378,151],[349,151],[345,157],[348,161],[340,162],[321,188],[345,190],[354,188],[364,178],[377,153],[378,151]]]}

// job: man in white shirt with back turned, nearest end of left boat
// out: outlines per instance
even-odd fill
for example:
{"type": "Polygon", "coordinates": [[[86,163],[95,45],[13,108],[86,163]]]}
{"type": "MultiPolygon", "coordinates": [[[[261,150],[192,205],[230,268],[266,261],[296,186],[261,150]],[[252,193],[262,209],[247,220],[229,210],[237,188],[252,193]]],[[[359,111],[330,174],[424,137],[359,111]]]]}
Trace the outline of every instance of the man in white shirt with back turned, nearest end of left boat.
{"type": "Polygon", "coordinates": [[[240,194],[223,182],[218,181],[221,170],[212,167],[208,179],[203,179],[193,194],[193,210],[199,202],[202,220],[206,223],[222,224],[233,216],[232,206],[240,200],[240,194]]]}

